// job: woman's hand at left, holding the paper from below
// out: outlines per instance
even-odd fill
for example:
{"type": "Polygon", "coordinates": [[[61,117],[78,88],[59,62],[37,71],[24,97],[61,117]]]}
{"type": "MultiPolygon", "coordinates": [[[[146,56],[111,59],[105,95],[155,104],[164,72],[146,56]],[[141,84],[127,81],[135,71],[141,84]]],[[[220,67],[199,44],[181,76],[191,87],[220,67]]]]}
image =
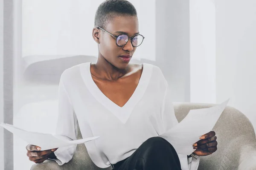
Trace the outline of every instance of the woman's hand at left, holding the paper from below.
{"type": "Polygon", "coordinates": [[[42,163],[48,158],[52,158],[52,155],[54,155],[54,151],[57,150],[58,148],[52,149],[52,150],[44,150],[40,151],[41,147],[35,146],[35,145],[30,145],[28,144],[26,146],[27,150],[27,156],[29,157],[30,161],[33,161],[35,163],[42,163]]]}

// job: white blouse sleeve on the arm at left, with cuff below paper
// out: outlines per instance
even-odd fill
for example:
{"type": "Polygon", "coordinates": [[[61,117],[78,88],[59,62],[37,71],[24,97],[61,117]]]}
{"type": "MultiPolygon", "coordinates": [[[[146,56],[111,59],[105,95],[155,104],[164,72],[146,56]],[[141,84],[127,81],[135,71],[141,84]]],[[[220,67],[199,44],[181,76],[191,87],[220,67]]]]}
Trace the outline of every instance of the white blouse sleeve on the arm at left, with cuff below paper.
{"type": "MultiPolygon", "coordinates": [[[[58,119],[55,130],[55,136],[64,140],[76,140],[77,136],[77,118],[73,110],[73,105],[64,87],[62,79],[60,79],[58,88],[58,119]]],[[[54,153],[56,161],[59,165],[69,162],[76,151],[77,145],[59,147],[54,153]]]]}

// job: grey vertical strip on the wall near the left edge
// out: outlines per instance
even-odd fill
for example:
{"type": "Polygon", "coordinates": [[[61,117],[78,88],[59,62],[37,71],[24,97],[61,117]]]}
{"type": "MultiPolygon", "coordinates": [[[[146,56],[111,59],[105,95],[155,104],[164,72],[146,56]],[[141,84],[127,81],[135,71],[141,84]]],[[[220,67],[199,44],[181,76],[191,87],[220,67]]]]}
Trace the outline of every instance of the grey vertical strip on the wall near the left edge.
{"type": "MultiPolygon", "coordinates": [[[[3,119],[13,124],[13,0],[3,1],[3,119]]],[[[4,170],[13,170],[13,136],[4,130],[4,170]]]]}

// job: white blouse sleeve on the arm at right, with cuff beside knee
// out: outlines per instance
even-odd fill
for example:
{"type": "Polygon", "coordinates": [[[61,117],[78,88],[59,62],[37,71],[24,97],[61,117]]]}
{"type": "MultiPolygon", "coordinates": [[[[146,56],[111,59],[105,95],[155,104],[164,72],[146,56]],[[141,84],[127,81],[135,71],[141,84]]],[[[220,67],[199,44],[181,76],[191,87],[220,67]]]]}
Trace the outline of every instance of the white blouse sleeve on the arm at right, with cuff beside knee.
{"type": "MultiPolygon", "coordinates": [[[[171,94],[169,91],[169,85],[166,79],[164,78],[162,72],[160,72],[160,77],[162,77],[161,84],[164,85],[164,95],[161,109],[161,118],[163,123],[163,133],[170,130],[172,127],[178,124],[177,118],[175,116],[174,106],[171,99],[171,94]]],[[[187,158],[186,155],[178,154],[180,159],[180,165],[182,170],[197,170],[199,165],[200,156],[195,158],[187,158]]]]}

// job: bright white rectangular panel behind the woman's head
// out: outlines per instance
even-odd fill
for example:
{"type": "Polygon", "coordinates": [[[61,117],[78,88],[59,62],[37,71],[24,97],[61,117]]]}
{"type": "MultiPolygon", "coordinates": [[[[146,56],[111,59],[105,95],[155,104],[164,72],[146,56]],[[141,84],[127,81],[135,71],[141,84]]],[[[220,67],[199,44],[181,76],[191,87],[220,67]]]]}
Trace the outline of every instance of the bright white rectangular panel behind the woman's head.
{"type": "MultiPolygon", "coordinates": [[[[22,56],[98,56],[93,41],[95,12],[104,0],[23,0],[22,56]],[[61,5],[60,5],[61,4],[61,5]]],[[[138,12],[145,42],[133,59],[155,59],[155,0],[129,0],[138,12]],[[147,8],[145,8],[147,3],[147,8]],[[150,49],[150,50],[149,50],[150,49]]]]}

